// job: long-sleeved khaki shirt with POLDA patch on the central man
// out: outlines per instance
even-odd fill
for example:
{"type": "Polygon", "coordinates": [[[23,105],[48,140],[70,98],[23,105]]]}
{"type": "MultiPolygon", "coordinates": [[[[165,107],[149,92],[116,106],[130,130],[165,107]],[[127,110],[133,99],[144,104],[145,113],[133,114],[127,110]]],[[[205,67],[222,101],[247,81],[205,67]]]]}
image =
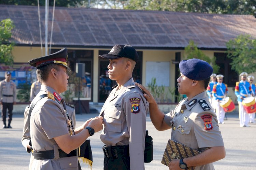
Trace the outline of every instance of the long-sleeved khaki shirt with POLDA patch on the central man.
{"type": "Polygon", "coordinates": [[[130,169],[143,170],[148,102],[133,79],[121,89],[114,88],[100,111],[103,119],[101,141],[107,146],[129,145],[130,169]]]}

